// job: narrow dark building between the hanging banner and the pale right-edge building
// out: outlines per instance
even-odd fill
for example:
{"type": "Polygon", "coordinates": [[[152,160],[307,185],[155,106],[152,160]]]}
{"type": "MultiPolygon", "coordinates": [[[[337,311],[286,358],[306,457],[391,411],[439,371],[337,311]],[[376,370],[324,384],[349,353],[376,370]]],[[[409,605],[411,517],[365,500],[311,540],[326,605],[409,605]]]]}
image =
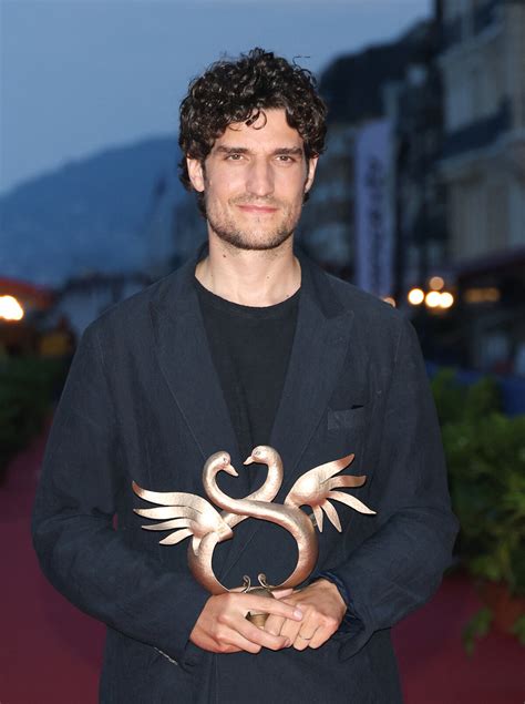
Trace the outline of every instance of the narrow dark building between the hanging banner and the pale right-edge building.
{"type": "Polygon", "coordinates": [[[436,62],[440,16],[419,27],[419,51],[401,81],[383,90],[392,125],[393,289],[403,305],[447,263],[445,192],[437,170],[443,144],[443,86],[436,62]]]}

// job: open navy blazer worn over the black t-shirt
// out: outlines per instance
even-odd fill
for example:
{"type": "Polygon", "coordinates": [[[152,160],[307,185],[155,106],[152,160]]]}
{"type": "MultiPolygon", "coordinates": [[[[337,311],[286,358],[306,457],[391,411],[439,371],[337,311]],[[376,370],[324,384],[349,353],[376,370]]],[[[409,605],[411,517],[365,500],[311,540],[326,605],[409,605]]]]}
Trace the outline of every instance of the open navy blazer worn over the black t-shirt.
{"type": "MultiPolygon", "coordinates": [[[[132,480],[203,494],[203,463],[225,449],[240,475],[220,484],[240,498],[266,468],[241,471],[195,265],[85,330],[45,452],[34,545],[55,588],[107,625],[100,701],[400,702],[390,628],[435,591],[456,533],[415,334],[394,308],[301,257],[297,330],[269,439],[285,467],[276,501],[305,471],[354,452],[344,473],[367,475],[352,492],[377,516],[336,503],[342,533],[326,521],[319,535],[318,570],[337,574],[350,595],[325,645],[202,651],[188,636],[208,594],[189,573],[187,541],[159,545],[159,533],[141,529],[132,480]]],[[[278,583],[296,555],[282,529],[248,519],[216,549],[214,567],[227,586],[261,571],[278,583]]]]}

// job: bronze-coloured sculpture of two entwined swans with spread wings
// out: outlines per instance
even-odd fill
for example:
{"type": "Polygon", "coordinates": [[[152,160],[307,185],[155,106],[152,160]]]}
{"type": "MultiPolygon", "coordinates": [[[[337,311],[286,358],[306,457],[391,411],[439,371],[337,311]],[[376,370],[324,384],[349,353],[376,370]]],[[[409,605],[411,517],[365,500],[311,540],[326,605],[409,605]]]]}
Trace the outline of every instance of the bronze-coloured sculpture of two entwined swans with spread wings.
{"type": "Polygon", "coordinates": [[[375,513],[356,497],[337,491],[341,487],[361,487],[364,483],[364,476],[334,477],[352,460],[353,455],[347,455],[315,467],[295,482],[284,504],[275,504],[271,502],[284,478],[282,461],[277,450],[260,445],[246,459],[245,465],[251,462],[267,465],[268,473],[265,483],[257,491],[241,499],[233,499],[217,486],[216,477],[219,472],[225,471],[234,477],[238,477],[238,472],[231,466],[228,452],[215,452],[204,466],[203,486],[208,499],[223,509],[220,513],[209,501],[197,494],[148,491],[136,482],[133,482],[133,491],[141,499],[156,503],[157,507],[134,509],[134,511],[144,518],[161,520],[154,526],[143,526],[145,530],[173,531],[159,541],[162,544],[173,545],[192,535],[188,545],[189,569],[195,579],[212,594],[228,591],[213,571],[213,553],[217,543],[233,538],[233,528],[247,518],[276,523],[295,538],[298,547],[297,563],[291,574],[281,584],[268,586],[266,581],[261,581],[264,575],[259,575],[259,582],[268,590],[297,586],[310,575],[318,558],[318,539],[313,522],[301,510],[301,506],[311,507],[319,531],[322,531],[323,511],[334,528],[338,531],[342,530],[330,499],[341,501],[360,513],[375,513]]]}

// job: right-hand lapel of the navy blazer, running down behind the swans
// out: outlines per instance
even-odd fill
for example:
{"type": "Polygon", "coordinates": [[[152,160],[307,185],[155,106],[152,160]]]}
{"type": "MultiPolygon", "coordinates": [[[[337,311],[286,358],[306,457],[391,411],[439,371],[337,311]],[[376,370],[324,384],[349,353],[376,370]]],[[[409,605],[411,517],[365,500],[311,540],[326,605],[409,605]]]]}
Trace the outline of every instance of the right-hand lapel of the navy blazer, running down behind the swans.
{"type": "MultiPolygon", "coordinates": [[[[327,275],[299,256],[302,269],[299,315],[290,363],[270,445],[281,456],[285,479],[277,502],[282,502],[299,475],[299,462],[326,410],[350,341],[353,313],[342,308],[327,275]]],[[[326,461],[334,459],[327,458],[326,461]]],[[[223,577],[238,561],[260,528],[250,521],[243,542],[233,541],[223,577]]]]}

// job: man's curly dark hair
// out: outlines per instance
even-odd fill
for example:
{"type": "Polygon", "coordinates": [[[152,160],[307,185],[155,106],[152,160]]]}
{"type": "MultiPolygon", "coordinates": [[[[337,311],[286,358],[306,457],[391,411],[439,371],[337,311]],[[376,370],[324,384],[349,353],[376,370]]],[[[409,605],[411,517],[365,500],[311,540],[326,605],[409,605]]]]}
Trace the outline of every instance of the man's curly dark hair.
{"type": "MultiPolygon", "coordinates": [[[[317,93],[316,79],[307,69],[256,48],[237,60],[217,61],[194,79],[181,103],[179,178],[184,186],[193,190],[187,156],[204,164],[215,140],[229,124],[253,124],[265,109],[276,108],[286,110],[288,124],[301,135],[306,157],[321,154],[327,108],[317,93]]],[[[205,214],[204,194],[197,193],[197,202],[205,214]]]]}

